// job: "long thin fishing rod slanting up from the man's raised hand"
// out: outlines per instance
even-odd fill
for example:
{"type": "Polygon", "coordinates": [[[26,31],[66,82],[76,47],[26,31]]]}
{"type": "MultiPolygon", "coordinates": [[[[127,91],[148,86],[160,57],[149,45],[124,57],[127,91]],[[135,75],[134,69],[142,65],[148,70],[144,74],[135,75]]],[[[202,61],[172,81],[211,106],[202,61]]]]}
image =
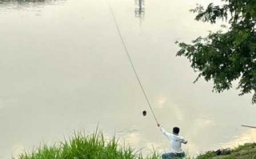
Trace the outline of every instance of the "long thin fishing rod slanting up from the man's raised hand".
{"type": "MultiPolygon", "coordinates": [[[[110,4],[109,4],[109,5],[110,5],[110,4]]],[[[114,11],[112,10],[111,5],[110,5],[110,10],[111,10],[111,14],[112,14],[112,16],[113,16],[113,18],[114,18],[114,23],[115,23],[116,29],[118,30],[119,37],[120,37],[120,39],[121,39],[121,41],[122,41],[122,45],[124,46],[124,48],[125,48],[125,50],[126,50],[126,55],[127,55],[127,57],[129,58],[130,65],[132,66],[132,68],[133,68],[133,70],[134,70],[134,74],[135,74],[135,76],[136,76],[136,78],[137,78],[138,84],[140,85],[140,87],[141,87],[141,89],[142,89],[142,93],[144,94],[144,97],[146,98],[146,102],[147,102],[147,104],[148,104],[149,107],[150,107],[150,110],[151,110],[151,112],[152,112],[152,114],[153,114],[153,116],[154,116],[154,120],[158,123],[158,119],[157,119],[157,117],[155,116],[154,111],[153,111],[153,109],[152,109],[152,107],[151,107],[151,105],[150,105],[150,100],[149,100],[149,98],[146,96],[146,91],[145,91],[145,89],[143,88],[143,85],[142,85],[142,82],[141,82],[140,78],[138,77],[137,71],[135,70],[135,67],[134,67],[134,63],[132,62],[132,60],[131,60],[131,58],[130,58],[130,54],[129,54],[129,51],[127,50],[126,43],[124,42],[124,40],[123,40],[123,38],[122,38],[122,34],[121,34],[121,31],[119,30],[118,22],[117,22],[117,20],[116,20],[116,18],[115,18],[115,16],[114,16],[114,11]]]]}

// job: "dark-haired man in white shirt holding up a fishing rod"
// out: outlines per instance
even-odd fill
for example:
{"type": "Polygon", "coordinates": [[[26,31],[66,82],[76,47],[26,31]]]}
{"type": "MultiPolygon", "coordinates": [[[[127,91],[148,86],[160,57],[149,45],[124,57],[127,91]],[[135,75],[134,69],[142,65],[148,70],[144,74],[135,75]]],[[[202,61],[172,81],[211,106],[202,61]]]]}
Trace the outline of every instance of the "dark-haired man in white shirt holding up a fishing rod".
{"type": "Polygon", "coordinates": [[[162,159],[173,159],[177,157],[185,157],[185,153],[182,150],[182,144],[186,144],[187,141],[184,137],[178,135],[179,128],[174,127],[173,133],[167,132],[165,129],[162,128],[162,125],[158,123],[158,127],[162,134],[164,134],[170,141],[170,153],[163,153],[162,159]]]}

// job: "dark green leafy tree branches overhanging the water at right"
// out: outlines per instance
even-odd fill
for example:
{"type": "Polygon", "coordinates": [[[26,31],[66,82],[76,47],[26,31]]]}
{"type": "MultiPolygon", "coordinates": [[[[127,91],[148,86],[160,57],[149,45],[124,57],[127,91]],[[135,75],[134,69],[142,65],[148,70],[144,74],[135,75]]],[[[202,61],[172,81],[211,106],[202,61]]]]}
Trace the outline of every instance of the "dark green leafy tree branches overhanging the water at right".
{"type": "MultiPolygon", "coordinates": [[[[213,90],[220,93],[239,80],[237,89],[243,95],[254,92],[256,102],[256,2],[252,0],[222,0],[223,5],[198,6],[196,20],[215,23],[218,19],[229,23],[227,31],[210,32],[192,44],[177,42],[177,56],[190,60],[198,78],[214,81],[213,90]]],[[[225,26],[223,26],[225,27],[225,26]]],[[[198,78],[195,81],[198,81],[198,78]]]]}

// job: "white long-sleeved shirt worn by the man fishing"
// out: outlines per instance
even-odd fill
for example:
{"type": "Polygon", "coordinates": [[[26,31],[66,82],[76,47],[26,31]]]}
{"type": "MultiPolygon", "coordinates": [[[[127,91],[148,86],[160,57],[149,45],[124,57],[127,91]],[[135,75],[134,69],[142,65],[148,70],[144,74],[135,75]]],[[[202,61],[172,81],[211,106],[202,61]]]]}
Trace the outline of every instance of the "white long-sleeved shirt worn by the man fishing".
{"type": "Polygon", "coordinates": [[[170,152],[171,153],[182,153],[182,143],[186,144],[187,141],[184,137],[178,136],[173,133],[168,133],[165,129],[160,126],[160,131],[169,139],[170,141],[170,152]]]}

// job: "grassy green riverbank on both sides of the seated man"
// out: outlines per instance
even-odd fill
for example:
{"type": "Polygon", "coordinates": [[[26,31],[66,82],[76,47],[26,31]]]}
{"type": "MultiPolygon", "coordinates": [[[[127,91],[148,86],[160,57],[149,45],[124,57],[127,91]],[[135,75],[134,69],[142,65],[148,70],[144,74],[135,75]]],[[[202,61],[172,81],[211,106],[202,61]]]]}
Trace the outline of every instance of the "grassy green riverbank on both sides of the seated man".
{"type": "MultiPolygon", "coordinates": [[[[106,139],[102,132],[86,135],[74,133],[69,140],[51,146],[41,146],[31,153],[22,153],[18,159],[159,159],[160,154],[143,157],[140,151],[134,151],[129,145],[120,145],[116,137],[106,139]]],[[[234,149],[208,151],[198,157],[186,159],[254,159],[256,143],[246,143],[234,149]]]]}

